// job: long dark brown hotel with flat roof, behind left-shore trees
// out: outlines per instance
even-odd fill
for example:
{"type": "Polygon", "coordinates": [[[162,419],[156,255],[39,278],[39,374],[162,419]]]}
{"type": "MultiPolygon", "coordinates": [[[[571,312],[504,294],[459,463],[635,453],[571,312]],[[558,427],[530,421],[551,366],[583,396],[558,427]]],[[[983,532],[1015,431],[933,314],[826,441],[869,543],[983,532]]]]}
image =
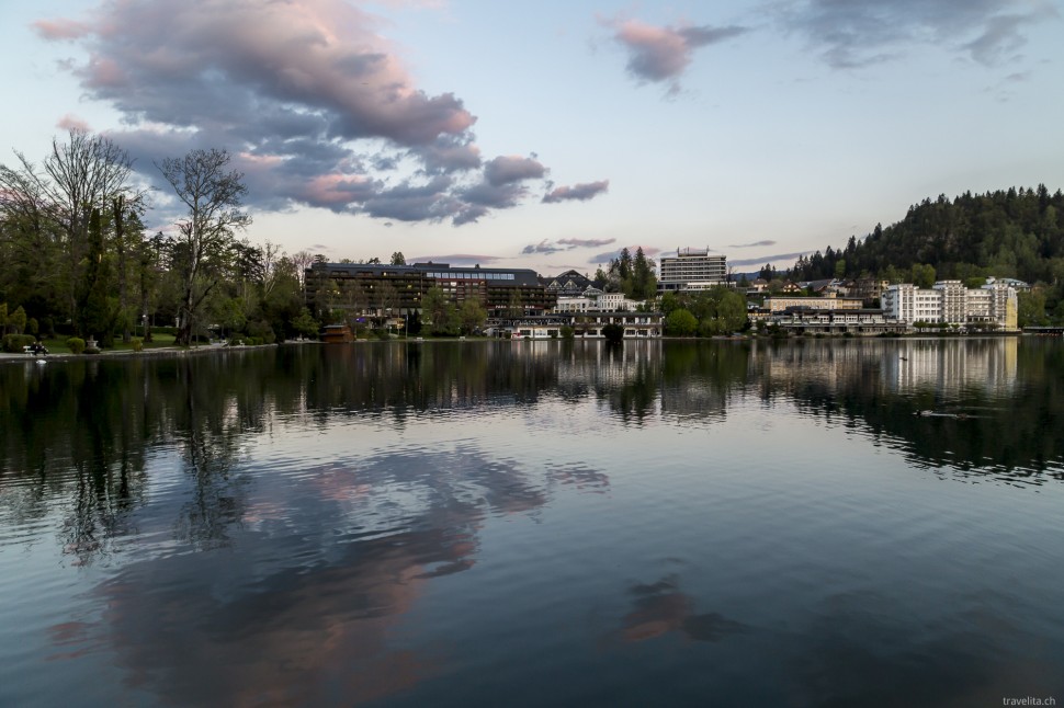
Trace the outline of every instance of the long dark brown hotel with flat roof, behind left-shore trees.
{"type": "Polygon", "coordinates": [[[306,270],[307,300],[316,309],[370,317],[403,317],[420,311],[421,298],[441,288],[457,305],[476,298],[489,317],[542,315],[556,295],[528,269],[456,267],[446,263],[380,265],[315,263],[306,270]]]}

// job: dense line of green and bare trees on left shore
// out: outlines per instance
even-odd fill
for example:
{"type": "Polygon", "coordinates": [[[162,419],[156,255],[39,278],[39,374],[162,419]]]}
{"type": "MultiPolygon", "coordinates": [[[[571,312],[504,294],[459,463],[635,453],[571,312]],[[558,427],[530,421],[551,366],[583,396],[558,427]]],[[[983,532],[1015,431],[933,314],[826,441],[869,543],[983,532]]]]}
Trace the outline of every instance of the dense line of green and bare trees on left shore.
{"type": "Polygon", "coordinates": [[[4,333],[110,346],[136,334],[150,341],[152,324],[172,326],[183,345],[208,326],[262,341],[317,331],[303,289],[313,256],[239,238],[251,224],[247,187],[226,150],[155,164],[181,214],[154,235],[144,226],[151,192],[109,138],[75,129],[39,163],[15,158],[0,164],[4,333]]]}

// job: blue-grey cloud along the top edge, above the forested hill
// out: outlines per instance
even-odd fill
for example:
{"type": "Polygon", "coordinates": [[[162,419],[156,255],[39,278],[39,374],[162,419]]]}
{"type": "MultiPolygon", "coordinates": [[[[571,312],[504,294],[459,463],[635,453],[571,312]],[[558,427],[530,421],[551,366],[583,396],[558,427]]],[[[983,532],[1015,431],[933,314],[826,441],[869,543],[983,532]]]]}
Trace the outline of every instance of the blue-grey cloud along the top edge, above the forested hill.
{"type": "Polygon", "coordinates": [[[839,69],[861,68],[933,44],[984,66],[1009,59],[1029,25],[1059,18],[1046,0],[806,0],[777,3],[779,18],[839,69]]]}

